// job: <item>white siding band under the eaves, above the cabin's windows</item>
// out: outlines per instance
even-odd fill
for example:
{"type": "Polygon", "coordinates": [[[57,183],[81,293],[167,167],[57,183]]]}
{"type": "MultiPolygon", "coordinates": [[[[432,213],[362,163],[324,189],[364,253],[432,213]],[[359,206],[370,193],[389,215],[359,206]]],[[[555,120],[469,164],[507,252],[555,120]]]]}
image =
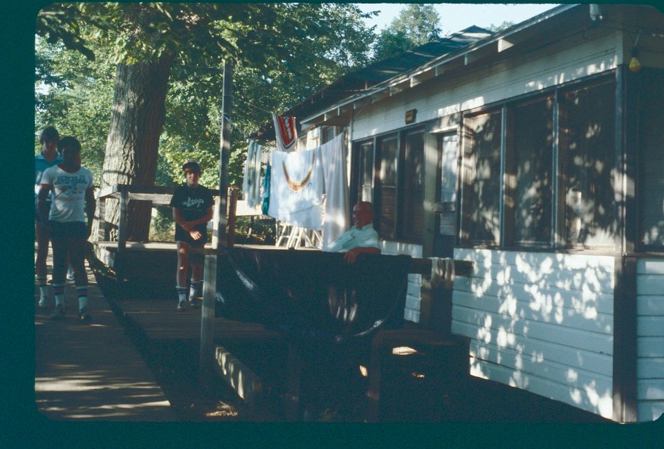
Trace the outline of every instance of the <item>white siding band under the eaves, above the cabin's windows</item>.
{"type": "Polygon", "coordinates": [[[444,84],[434,82],[409,89],[365,107],[353,122],[352,140],[404,127],[407,109],[417,109],[417,122],[425,122],[609,71],[622,62],[621,45],[619,34],[612,30],[596,39],[578,35],[519,57],[509,65],[488,66],[461,77],[445,78],[444,84]]]}

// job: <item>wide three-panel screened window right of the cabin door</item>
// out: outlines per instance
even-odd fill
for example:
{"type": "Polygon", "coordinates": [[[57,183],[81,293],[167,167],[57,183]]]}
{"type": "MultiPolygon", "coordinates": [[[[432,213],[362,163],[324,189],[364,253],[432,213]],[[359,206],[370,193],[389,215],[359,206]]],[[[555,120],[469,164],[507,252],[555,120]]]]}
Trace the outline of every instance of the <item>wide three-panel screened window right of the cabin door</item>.
{"type": "Polygon", "coordinates": [[[615,89],[604,77],[466,116],[461,241],[614,246],[615,89]]]}

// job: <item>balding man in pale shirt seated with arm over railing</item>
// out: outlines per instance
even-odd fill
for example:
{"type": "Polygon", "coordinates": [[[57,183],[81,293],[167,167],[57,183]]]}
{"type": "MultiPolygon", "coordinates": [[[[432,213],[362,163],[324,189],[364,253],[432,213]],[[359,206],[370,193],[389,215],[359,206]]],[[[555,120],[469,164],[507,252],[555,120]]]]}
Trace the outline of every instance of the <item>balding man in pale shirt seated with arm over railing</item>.
{"type": "Polygon", "coordinates": [[[330,253],[346,253],[344,259],[355,263],[360,253],[380,254],[378,232],[374,229],[374,207],[360,201],[353,207],[353,227],[337,237],[327,248],[330,253]]]}

